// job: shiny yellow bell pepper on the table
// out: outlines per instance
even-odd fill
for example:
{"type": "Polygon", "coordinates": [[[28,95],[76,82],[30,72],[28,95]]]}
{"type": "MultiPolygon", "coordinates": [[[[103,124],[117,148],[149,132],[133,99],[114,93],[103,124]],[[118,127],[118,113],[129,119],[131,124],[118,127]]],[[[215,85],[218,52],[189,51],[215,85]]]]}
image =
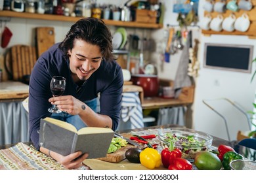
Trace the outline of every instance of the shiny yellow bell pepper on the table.
{"type": "Polygon", "coordinates": [[[140,163],[148,169],[158,168],[161,165],[161,155],[154,148],[145,148],[140,152],[140,163]]]}

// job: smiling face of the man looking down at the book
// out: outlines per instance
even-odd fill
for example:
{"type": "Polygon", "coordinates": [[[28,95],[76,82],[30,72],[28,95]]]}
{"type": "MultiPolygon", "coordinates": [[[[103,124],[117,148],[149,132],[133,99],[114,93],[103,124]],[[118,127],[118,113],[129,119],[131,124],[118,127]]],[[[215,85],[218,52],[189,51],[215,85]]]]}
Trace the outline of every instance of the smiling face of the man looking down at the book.
{"type": "Polygon", "coordinates": [[[75,82],[87,80],[100,67],[102,54],[100,47],[75,39],[74,48],[68,50],[70,70],[75,82]]]}

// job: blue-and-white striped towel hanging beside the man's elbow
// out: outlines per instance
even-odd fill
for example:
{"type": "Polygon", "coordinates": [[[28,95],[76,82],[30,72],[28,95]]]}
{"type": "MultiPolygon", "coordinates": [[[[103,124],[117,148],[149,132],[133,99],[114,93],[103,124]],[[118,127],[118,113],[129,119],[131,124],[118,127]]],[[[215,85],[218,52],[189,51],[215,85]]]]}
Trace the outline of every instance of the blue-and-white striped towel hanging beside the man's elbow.
{"type": "Polygon", "coordinates": [[[139,92],[125,92],[122,94],[121,119],[131,121],[131,129],[144,127],[142,107],[139,92]]]}

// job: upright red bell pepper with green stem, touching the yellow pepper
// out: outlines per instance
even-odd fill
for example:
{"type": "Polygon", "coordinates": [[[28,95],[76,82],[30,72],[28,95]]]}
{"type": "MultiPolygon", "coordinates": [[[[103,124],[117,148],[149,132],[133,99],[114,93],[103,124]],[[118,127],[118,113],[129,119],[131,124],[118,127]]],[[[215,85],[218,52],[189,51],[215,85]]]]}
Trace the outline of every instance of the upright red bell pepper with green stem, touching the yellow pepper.
{"type": "Polygon", "coordinates": [[[161,151],[161,163],[163,163],[163,167],[166,169],[169,167],[175,158],[181,158],[182,152],[179,148],[173,147],[173,142],[170,141],[169,148],[164,148],[161,151]]]}

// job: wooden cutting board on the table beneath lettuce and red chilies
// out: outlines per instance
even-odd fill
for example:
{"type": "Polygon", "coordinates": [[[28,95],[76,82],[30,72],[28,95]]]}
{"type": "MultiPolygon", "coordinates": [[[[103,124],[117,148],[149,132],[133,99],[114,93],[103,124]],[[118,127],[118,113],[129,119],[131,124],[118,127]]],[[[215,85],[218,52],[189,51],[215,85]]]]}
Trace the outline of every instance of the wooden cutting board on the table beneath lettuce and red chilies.
{"type": "MultiPolygon", "coordinates": [[[[131,137],[131,135],[129,133],[123,133],[121,135],[123,135],[123,137],[127,137],[127,138],[131,137]]],[[[116,152],[107,154],[107,156],[105,158],[97,158],[97,159],[100,159],[102,161],[108,161],[111,163],[118,163],[118,162],[122,161],[123,159],[125,159],[125,152],[129,148],[135,148],[135,146],[133,146],[132,144],[126,144],[125,147],[119,148],[119,150],[117,150],[116,152]]]]}

